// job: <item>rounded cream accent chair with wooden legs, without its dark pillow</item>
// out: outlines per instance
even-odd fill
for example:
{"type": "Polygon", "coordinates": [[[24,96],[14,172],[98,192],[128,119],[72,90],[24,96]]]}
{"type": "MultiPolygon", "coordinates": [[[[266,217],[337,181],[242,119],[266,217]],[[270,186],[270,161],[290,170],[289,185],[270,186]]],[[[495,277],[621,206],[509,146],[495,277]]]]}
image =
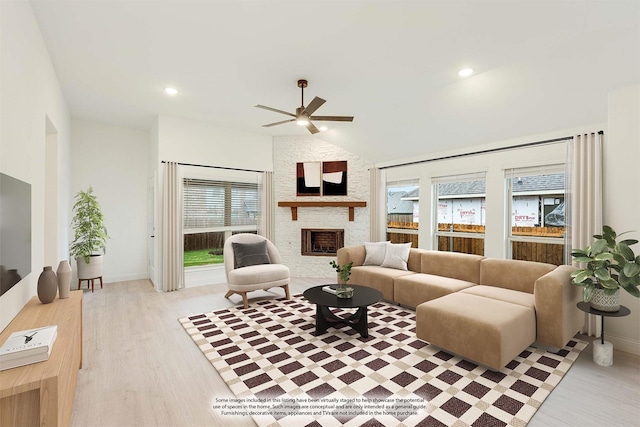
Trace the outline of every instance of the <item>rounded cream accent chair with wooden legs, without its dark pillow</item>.
{"type": "Polygon", "coordinates": [[[224,269],[229,286],[229,292],[226,293],[225,298],[229,298],[233,294],[241,295],[244,308],[248,308],[247,292],[280,287],[284,289],[287,299],[291,299],[289,295],[289,267],[282,264],[280,253],[266,237],[248,233],[235,234],[225,241],[223,252],[224,269]],[[265,240],[271,264],[236,268],[233,242],[258,243],[265,240]]]}

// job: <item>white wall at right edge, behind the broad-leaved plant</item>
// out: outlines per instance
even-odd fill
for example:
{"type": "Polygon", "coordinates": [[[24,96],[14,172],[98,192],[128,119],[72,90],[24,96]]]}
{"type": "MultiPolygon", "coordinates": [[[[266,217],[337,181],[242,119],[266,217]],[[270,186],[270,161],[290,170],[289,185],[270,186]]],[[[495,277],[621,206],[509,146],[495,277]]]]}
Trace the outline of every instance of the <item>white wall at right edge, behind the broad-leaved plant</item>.
{"type": "MultiPolygon", "coordinates": [[[[609,131],[604,152],[604,224],[617,232],[634,230],[640,240],[640,85],[609,94],[609,131]]],[[[640,244],[632,246],[640,255],[640,244]]],[[[605,337],[615,348],[640,354],[640,298],[622,291],[631,315],[607,319],[605,337]]]]}

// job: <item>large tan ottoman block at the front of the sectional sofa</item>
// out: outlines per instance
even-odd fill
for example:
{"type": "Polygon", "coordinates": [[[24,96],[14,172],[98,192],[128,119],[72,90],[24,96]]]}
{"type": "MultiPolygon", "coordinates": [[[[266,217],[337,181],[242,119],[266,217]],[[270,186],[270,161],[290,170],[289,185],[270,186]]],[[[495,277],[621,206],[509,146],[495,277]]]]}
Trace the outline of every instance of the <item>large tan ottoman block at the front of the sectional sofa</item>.
{"type": "Polygon", "coordinates": [[[536,314],[531,307],[453,293],[416,308],[416,335],[500,370],[536,340],[536,314]]]}

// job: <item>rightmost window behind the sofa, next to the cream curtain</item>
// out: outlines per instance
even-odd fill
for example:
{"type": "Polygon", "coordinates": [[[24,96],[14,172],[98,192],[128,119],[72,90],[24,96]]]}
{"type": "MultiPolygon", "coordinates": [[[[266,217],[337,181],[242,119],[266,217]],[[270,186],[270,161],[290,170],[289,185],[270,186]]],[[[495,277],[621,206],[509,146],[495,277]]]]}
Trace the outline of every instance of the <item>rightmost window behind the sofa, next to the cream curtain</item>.
{"type": "Polygon", "coordinates": [[[564,264],[564,167],[510,169],[505,177],[510,258],[564,264]]]}

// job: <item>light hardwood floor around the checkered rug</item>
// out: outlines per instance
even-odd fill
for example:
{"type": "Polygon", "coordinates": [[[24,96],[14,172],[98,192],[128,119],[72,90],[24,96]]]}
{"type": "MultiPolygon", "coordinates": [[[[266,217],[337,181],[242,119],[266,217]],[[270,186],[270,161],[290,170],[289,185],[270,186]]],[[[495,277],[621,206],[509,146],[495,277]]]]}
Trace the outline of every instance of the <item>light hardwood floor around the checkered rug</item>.
{"type": "MultiPolygon", "coordinates": [[[[329,281],[292,279],[291,292],[329,281]]],[[[233,395],[177,320],[240,301],[225,299],[225,292],[220,284],[158,293],[147,280],[85,290],[83,366],[71,424],[255,426],[250,417],[212,409],[216,397],[233,395]]],[[[614,366],[604,368],[592,362],[589,345],[529,426],[640,426],[640,357],[616,351],[614,366]]]]}

